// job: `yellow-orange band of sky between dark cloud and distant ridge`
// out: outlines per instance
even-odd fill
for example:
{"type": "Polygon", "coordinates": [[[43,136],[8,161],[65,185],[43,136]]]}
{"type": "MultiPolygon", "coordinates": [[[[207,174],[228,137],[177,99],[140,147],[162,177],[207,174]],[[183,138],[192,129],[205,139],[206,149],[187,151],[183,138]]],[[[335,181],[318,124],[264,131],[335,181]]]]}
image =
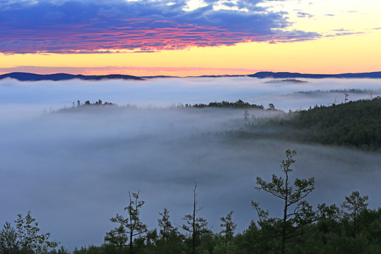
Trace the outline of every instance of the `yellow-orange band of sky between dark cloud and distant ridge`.
{"type": "Polygon", "coordinates": [[[86,75],[244,75],[258,71],[360,73],[381,71],[381,30],[320,40],[224,47],[194,47],[154,53],[0,54],[0,73],[86,75]],[[22,63],[22,64],[20,64],[22,63]]]}

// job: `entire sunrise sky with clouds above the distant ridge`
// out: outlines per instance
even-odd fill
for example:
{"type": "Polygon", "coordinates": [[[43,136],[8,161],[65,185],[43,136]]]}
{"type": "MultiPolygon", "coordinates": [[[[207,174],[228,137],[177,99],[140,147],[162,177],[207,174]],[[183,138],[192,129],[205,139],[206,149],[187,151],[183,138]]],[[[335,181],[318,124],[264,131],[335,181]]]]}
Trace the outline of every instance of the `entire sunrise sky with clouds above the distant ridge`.
{"type": "Polygon", "coordinates": [[[380,71],[377,0],[1,0],[0,73],[380,71]]]}

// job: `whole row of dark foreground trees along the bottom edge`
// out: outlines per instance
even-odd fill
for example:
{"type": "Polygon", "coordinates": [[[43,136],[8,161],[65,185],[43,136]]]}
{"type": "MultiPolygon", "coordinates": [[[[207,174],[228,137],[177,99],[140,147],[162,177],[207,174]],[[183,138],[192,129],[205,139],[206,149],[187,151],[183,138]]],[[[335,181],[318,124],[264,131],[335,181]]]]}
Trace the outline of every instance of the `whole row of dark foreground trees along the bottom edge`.
{"type": "MultiPolygon", "coordinates": [[[[272,181],[257,177],[258,191],[279,198],[284,205],[282,217],[270,217],[269,211],[251,201],[258,214],[243,232],[236,232],[234,211],[221,217],[221,228],[212,229],[207,219],[198,216],[197,183],[193,188],[193,210],[183,217],[183,224],[171,222],[169,210],[158,213],[158,228],[148,229],[140,218],[144,200],[140,191],[128,193],[125,214],[116,214],[110,221],[114,229],[105,232],[101,246],[75,248],[73,254],[105,253],[381,253],[381,208],[368,209],[368,196],[353,191],[343,198],[341,205],[308,203],[308,195],[315,189],[315,179],[291,181],[296,151],[286,150],[280,166],[282,172],[273,174],[272,181]],[[280,176],[279,176],[280,175],[280,176]]],[[[105,218],[107,219],[107,218],[105,218]]],[[[0,231],[0,253],[68,254],[59,243],[49,241],[50,234],[40,233],[31,212],[18,214],[16,229],[6,222],[0,231]]],[[[96,222],[95,222],[96,223],[96,222]]]]}

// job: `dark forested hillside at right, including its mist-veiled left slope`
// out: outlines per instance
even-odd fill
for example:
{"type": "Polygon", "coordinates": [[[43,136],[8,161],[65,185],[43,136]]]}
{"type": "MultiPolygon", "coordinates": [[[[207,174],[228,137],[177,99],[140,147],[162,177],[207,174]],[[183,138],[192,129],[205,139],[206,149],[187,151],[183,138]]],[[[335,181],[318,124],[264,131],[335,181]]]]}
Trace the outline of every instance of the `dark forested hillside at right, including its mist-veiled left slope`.
{"type": "Polygon", "coordinates": [[[253,119],[234,133],[243,138],[281,138],[380,151],[381,97],[253,119]]]}

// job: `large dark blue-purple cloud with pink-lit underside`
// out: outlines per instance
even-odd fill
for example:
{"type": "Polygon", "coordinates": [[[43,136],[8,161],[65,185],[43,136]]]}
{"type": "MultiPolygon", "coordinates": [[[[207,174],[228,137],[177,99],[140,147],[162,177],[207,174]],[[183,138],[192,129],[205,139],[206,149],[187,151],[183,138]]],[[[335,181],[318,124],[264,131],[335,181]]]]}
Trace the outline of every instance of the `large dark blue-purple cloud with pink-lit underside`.
{"type": "Polygon", "coordinates": [[[257,6],[262,0],[217,1],[184,11],[186,1],[1,1],[0,50],[4,54],[155,52],[239,42],[313,40],[316,32],[281,30],[283,12],[257,6]]]}

